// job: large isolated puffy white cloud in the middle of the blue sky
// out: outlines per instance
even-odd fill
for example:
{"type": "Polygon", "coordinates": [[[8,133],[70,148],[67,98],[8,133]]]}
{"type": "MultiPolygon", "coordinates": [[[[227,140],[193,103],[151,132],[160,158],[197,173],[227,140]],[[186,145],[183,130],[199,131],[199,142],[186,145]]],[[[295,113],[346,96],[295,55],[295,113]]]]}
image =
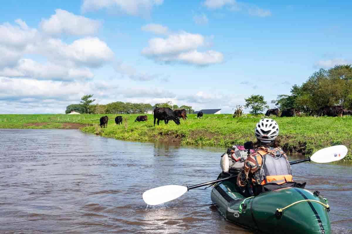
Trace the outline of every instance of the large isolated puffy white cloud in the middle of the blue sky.
{"type": "Polygon", "coordinates": [[[142,50],[142,55],[162,62],[180,62],[194,65],[221,63],[222,53],[208,50],[197,51],[207,45],[207,40],[200,34],[188,32],[171,33],[166,38],[152,38],[149,46],[142,50]]]}

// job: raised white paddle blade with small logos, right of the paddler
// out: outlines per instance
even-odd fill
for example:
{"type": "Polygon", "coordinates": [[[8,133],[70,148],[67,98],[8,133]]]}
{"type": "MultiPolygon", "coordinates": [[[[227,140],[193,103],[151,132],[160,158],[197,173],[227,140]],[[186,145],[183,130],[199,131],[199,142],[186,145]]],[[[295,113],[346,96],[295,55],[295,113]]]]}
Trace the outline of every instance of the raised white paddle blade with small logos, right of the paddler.
{"type": "Polygon", "coordinates": [[[347,154],[347,147],[335,145],[316,151],[310,160],[316,163],[330,163],[344,158],[347,154]]]}

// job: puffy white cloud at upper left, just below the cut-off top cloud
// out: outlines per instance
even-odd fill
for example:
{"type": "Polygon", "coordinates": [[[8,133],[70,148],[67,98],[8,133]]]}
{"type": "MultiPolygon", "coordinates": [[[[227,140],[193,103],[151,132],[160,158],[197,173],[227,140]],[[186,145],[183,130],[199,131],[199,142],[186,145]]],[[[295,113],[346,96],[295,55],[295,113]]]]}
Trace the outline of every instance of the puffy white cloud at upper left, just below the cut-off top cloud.
{"type": "Polygon", "coordinates": [[[98,31],[101,23],[65,10],[56,9],[50,19],[42,19],[40,27],[45,33],[67,33],[75,36],[90,35],[98,31]]]}

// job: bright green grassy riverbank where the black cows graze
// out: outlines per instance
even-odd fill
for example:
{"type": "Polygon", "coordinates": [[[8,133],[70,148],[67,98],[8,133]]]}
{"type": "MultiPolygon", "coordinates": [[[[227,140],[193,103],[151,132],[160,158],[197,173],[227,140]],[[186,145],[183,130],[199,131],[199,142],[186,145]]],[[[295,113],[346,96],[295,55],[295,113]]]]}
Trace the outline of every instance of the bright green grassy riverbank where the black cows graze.
{"type": "MultiPolygon", "coordinates": [[[[69,128],[134,141],[174,141],[188,145],[228,147],[255,140],[254,125],[260,116],[232,118],[230,114],[205,115],[197,119],[188,115],[177,126],[173,121],[153,127],[153,116],[148,122],[134,122],[137,115],[122,115],[122,125],[115,125],[116,115],[108,115],[107,128],[99,127],[102,115],[0,115],[0,128],[69,128]],[[127,120],[127,121],[126,121],[127,120]],[[73,127],[74,126],[74,127],[73,127]]],[[[352,160],[352,117],[294,117],[276,118],[280,126],[279,140],[286,151],[312,154],[323,147],[343,144],[349,149],[346,159],[352,160]]]]}

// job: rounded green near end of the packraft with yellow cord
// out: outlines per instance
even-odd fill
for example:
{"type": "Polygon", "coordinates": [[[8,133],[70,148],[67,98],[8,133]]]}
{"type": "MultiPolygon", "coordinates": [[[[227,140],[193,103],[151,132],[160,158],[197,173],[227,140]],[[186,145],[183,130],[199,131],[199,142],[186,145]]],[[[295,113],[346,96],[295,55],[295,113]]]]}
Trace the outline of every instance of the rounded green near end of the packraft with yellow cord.
{"type": "Polygon", "coordinates": [[[322,196],[301,188],[284,188],[265,192],[253,199],[253,217],[264,233],[331,234],[327,202],[322,196]],[[317,202],[306,201],[314,200],[317,202]],[[301,201],[301,202],[298,202],[301,201]],[[282,213],[277,209],[298,202],[282,213]],[[322,204],[321,204],[322,203],[322,204]],[[275,227],[276,230],[273,230],[275,227]]]}

